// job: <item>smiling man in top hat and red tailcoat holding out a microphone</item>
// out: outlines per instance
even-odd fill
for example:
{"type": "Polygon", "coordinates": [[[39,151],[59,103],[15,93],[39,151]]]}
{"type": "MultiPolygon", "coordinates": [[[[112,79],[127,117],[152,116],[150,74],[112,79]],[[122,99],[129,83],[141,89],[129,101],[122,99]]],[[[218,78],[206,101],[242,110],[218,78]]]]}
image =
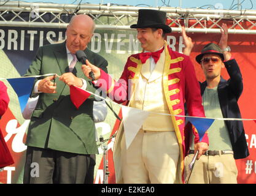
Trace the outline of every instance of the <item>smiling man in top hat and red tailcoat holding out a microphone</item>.
{"type": "MultiPolygon", "coordinates": [[[[180,116],[184,101],[191,116],[204,116],[193,64],[188,56],[169,48],[165,34],[171,28],[165,22],[165,12],[139,10],[138,23],[131,28],[137,29],[144,51],[128,58],[117,82],[88,61],[83,66],[87,77],[93,71],[99,79],[97,85],[104,81],[99,86],[113,100],[129,100],[129,107],[150,112],[130,146],[121,123],[114,146],[116,183],[182,183],[185,119],[180,116]]],[[[199,142],[195,130],[198,158],[207,148],[207,134],[199,142]]]]}

